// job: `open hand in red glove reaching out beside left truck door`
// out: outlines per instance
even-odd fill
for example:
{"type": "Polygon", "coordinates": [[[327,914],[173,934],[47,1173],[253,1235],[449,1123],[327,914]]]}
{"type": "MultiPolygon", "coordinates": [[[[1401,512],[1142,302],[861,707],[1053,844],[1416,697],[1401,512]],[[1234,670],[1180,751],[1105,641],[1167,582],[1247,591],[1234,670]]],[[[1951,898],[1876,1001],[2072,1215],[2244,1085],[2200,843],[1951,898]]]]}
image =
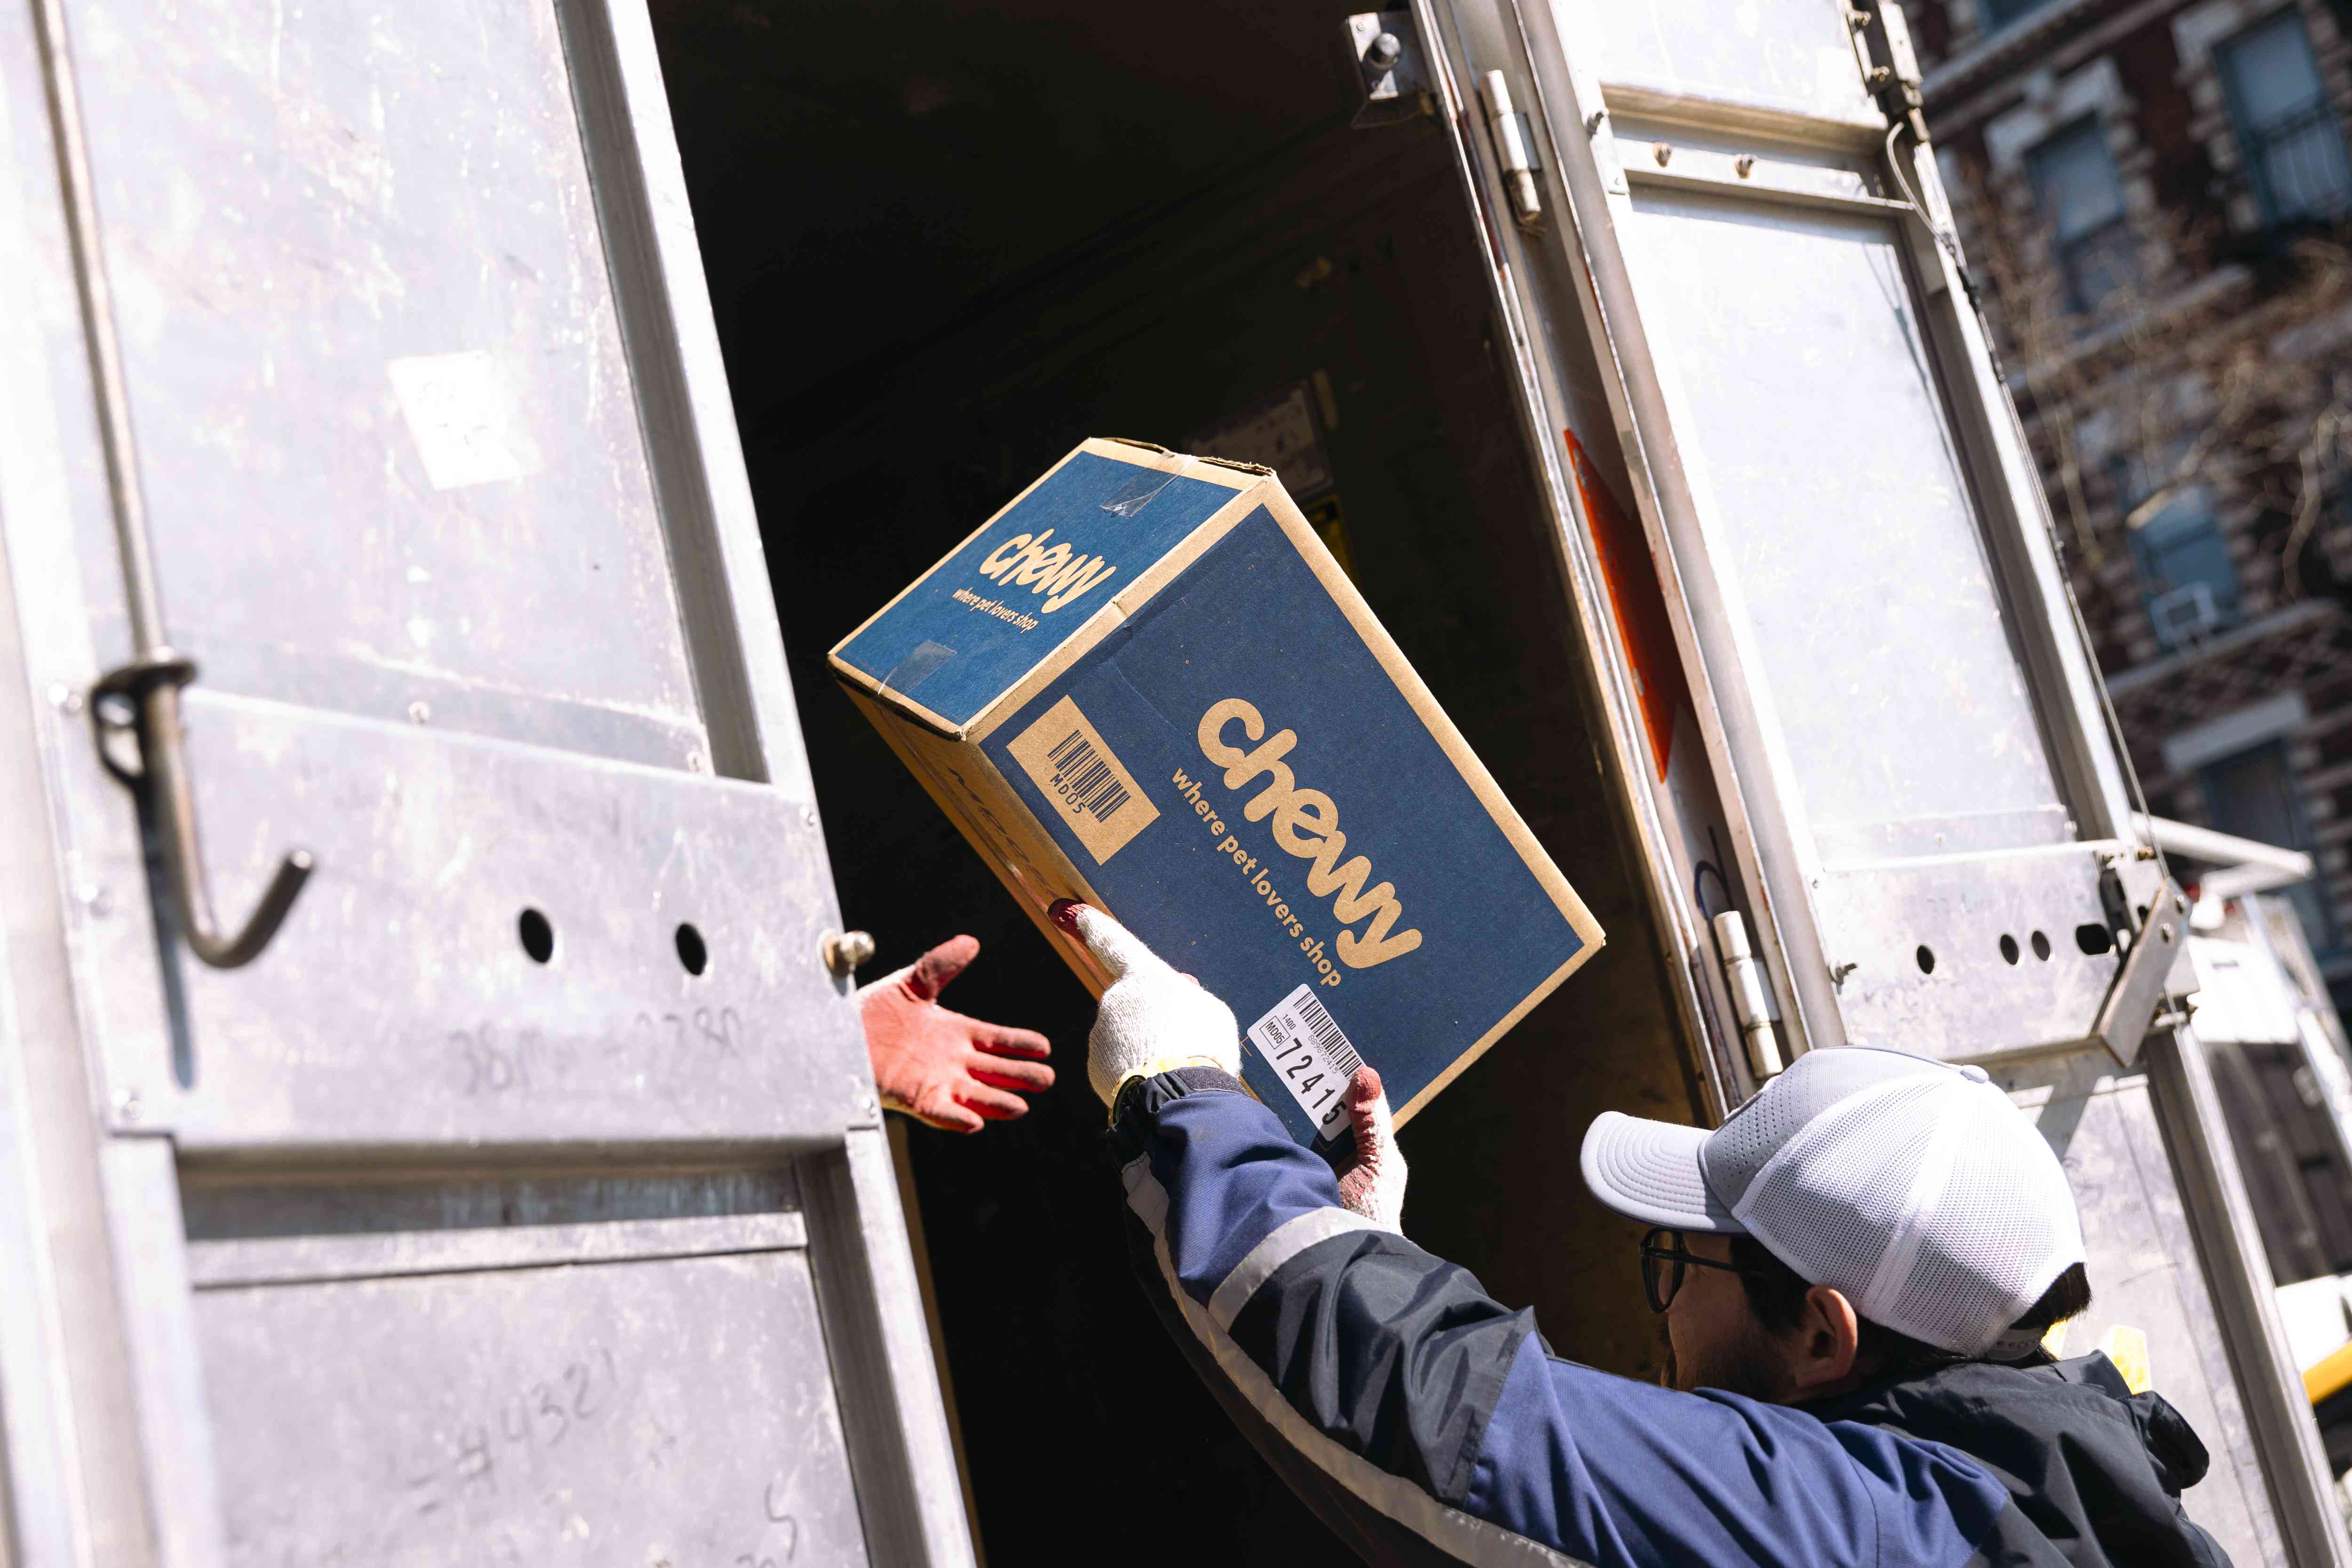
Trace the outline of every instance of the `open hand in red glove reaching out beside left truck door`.
{"type": "Polygon", "coordinates": [[[1054,1048],[1044,1034],[964,1018],[938,1004],[938,992],[978,954],[978,938],[955,936],[858,987],[866,1056],[884,1110],[946,1133],[976,1133],[1021,1117],[1028,1112],[1021,1095],[1054,1086],[1054,1070],[1044,1065],[1054,1048]]]}

